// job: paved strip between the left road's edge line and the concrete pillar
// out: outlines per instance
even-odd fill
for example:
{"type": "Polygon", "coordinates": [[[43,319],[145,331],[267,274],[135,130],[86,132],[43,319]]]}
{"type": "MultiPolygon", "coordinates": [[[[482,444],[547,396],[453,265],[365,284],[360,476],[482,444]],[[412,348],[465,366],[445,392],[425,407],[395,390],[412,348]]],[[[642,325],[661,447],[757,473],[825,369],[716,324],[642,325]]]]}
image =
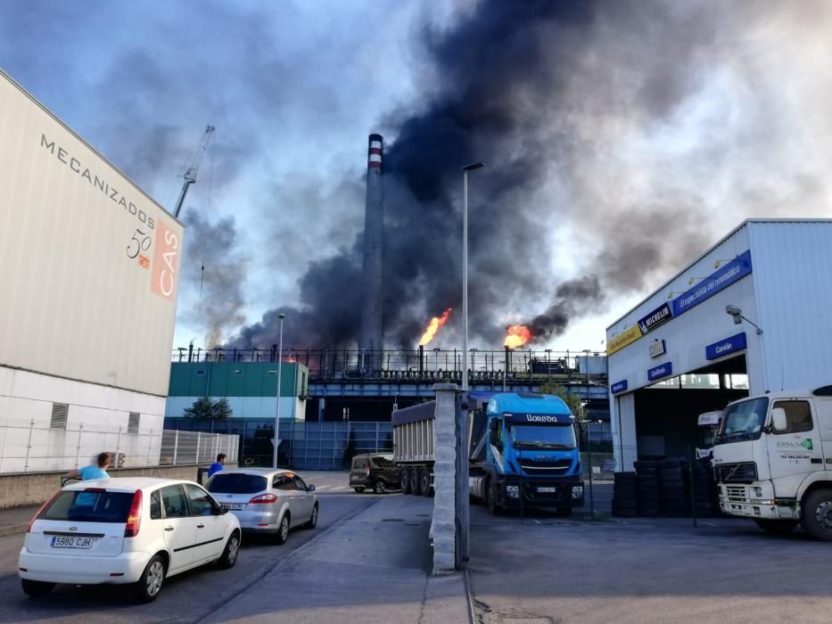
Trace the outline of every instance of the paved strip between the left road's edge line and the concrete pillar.
{"type": "Polygon", "coordinates": [[[430,575],[432,504],[424,497],[379,499],[298,548],[208,621],[470,621],[465,576],[430,575]]]}

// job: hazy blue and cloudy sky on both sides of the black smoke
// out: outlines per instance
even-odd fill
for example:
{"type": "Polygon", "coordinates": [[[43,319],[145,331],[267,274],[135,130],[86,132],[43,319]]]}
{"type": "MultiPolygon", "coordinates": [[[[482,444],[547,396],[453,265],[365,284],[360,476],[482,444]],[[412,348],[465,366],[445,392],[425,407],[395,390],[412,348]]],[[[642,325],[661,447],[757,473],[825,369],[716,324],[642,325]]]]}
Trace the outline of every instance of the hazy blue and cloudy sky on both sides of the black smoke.
{"type": "MultiPolygon", "coordinates": [[[[0,0],[0,65],[166,207],[205,125],[217,127],[185,204],[175,340],[203,344],[206,315],[227,340],[301,306],[309,261],[351,247],[367,134],[392,144],[403,120],[452,96],[432,42],[489,4],[0,0]]],[[[557,73],[556,96],[551,110],[536,104],[515,149],[539,136],[568,155],[517,189],[530,214],[554,207],[536,226],[548,253],[532,269],[540,288],[507,291],[493,316],[521,322],[558,283],[597,273],[603,300],[573,313],[555,349],[600,348],[607,324],[743,218],[829,214],[828,4],[652,4],[649,17],[643,4],[607,5],[573,44],[568,29],[561,47],[541,44],[552,62],[540,80],[557,73]]]]}

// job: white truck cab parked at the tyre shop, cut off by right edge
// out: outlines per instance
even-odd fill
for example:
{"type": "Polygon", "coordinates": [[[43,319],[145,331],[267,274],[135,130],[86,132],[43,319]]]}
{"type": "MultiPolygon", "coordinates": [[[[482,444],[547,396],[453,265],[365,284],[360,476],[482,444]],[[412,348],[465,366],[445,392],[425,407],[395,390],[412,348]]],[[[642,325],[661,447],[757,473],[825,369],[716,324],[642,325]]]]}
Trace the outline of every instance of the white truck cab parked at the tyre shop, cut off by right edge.
{"type": "Polygon", "coordinates": [[[832,541],[832,386],[730,403],[713,469],[724,513],[832,541]]]}

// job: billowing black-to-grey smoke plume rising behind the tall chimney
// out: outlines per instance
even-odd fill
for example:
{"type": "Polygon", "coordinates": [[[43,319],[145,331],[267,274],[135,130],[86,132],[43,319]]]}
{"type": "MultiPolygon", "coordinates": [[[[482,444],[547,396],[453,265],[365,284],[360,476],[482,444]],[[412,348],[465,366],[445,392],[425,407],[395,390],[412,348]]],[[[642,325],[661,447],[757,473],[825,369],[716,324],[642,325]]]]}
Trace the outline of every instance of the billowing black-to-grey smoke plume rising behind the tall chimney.
{"type": "MultiPolygon", "coordinates": [[[[746,170],[720,147],[720,119],[696,141],[686,119],[702,114],[691,102],[713,66],[743,83],[752,57],[731,37],[738,24],[768,23],[768,11],[483,0],[456,27],[425,31],[428,95],[382,124],[387,345],[412,348],[431,316],[459,308],[460,168],[475,160],[487,168],[471,175],[474,340],[498,345],[515,323],[554,339],[576,316],[605,311],[606,294],[645,291],[704,250],[715,212],[708,172],[723,164],[716,171],[729,185],[746,170]],[[679,136],[665,138],[670,129],[679,136]],[[556,234],[585,242],[564,274],[553,269],[564,266],[556,234]]],[[[758,138],[741,135],[730,149],[758,138]]],[[[364,140],[356,137],[357,151],[364,140]]],[[[752,209],[737,206],[732,220],[752,209]]],[[[301,279],[299,304],[284,310],[295,346],[355,343],[360,249],[350,244],[301,279]]],[[[274,341],[275,318],[268,313],[235,344],[274,341]]]]}

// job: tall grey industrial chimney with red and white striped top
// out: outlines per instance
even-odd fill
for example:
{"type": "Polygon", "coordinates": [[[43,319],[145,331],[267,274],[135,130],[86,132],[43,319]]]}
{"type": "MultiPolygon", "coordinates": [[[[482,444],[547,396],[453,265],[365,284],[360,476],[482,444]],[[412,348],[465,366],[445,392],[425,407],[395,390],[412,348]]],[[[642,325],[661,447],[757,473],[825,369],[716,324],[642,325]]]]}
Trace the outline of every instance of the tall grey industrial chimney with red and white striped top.
{"type": "Polygon", "coordinates": [[[381,367],[383,349],[383,152],[382,135],[370,135],[367,151],[367,208],[364,216],[364,305],[361,310],[361,340],[358,344],[364,350],[364,368],[367,371],[381,367]]]}

